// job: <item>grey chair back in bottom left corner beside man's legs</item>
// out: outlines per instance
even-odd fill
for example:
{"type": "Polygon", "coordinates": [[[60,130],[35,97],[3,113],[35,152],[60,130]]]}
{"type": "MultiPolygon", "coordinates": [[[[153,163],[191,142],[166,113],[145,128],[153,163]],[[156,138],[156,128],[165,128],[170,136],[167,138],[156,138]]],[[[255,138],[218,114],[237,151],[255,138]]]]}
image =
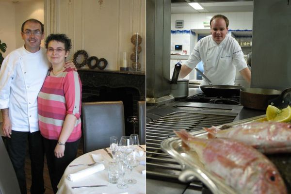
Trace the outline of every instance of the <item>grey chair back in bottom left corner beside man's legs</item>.
{"type": "Polygon", "coordinates": [[[1,137],[0,153],[0,194],[20,194],[14,168],[1,137]]]}

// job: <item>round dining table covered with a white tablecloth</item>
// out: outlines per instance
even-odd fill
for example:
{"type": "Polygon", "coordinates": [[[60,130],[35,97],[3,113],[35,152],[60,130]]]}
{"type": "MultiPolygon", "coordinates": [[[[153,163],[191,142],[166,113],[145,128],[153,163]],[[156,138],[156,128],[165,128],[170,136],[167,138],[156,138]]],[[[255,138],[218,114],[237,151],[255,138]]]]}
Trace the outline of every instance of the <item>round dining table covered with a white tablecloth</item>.
{"type": "MultiPolygon", "coordinates": [[[[143,149],[146,148],[145,145],[142,145],[143,149]]],[[[142,150],[142,148],[139,148],[142,150]]],[[[107,150],[111,153],[110,149],[107,150]]],[[[98,149],[92,152],[88,152],[86,154],[81,155],[76,158],[73,162],[71,162],[65,169],[64,175],[61,178],[58,184],[58,192],[57,194],[146,194],[146,152],[144,152],[143,156],[137,158],[140,161],[140,164],[135,167],[130,173],[130,177],[137,180],[135,184],[128,184],[128,188],[119,189],[117,184],[110,183],[108,181],[108,163],[112,162],[113,159],[106,152],[105,149],[98,149]],[[104,158],[104,162],[102,162],[105,166],[104,170],[96,172],[92,175],[88,175],[84,178],[80,178],[75,181],[71,181],[68,179],[68,175],[73,173],[77,173],[86,168],[90,168],[91,166],[80,165],[80,166],[70,166],[82,163],[93,163],[92,154],[101,154],[104,158]],[[101,187],[84,187],[84,188],[76,188],[79,186],[90,186],[90,185],[107,185],[101,187]]],[[[95,164],[95,165],[98,165],[95,164]]],[[[124,178],[129,178],[129,173],[126,173],[124,178]]],[[[121,179],[118,183],[121,182],[121,179]]]]}

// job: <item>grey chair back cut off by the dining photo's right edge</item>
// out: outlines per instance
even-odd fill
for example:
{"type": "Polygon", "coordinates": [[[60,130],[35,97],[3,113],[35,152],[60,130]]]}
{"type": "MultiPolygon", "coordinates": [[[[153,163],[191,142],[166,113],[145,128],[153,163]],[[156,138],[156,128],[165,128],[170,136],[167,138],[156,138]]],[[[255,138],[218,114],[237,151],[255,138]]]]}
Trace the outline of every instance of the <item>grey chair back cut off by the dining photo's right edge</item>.
{"type": "Polygon", "coordinates": [[[140,144],[146,144],[146,101],[137,102],[140,144]]]}

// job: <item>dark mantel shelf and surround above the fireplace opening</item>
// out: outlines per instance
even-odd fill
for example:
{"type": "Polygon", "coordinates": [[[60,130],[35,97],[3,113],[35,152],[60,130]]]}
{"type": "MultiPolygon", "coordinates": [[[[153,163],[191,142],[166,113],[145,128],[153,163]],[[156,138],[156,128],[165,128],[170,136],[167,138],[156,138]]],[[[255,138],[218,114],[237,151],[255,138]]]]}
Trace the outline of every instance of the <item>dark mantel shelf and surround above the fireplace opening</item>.
{"type": "Polygon", "coordinates": [[[79,68],[83,86],[131,87],[139,91],[140,100],[146,100],[146,72],[79,68]]]}

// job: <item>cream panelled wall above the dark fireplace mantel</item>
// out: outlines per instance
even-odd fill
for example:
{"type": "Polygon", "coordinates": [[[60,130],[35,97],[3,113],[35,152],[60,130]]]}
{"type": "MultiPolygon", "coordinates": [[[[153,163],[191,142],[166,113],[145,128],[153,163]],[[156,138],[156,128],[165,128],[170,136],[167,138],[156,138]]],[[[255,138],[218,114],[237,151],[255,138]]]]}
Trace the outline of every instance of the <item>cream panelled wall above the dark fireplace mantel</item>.
{"type": "MultiPolygon", "coordinates": [[[[50,4],[46,3],[46,13],[50,4]]],[[[46,21],[51,21],[51,13],[46,21]]],[[[134,32],[142,36],[142,52],[139,62],[146,70],[146,0],[56,0],[56,32],[65,33],[72,39],[73,48],[69,59],[80,49],[89,57],[105,58],[106,69],[118,70],[123,52],[132,53],[130,37],[134,32]]],[[[87,65],[84,68],[88,68],[87,65]]]]}

